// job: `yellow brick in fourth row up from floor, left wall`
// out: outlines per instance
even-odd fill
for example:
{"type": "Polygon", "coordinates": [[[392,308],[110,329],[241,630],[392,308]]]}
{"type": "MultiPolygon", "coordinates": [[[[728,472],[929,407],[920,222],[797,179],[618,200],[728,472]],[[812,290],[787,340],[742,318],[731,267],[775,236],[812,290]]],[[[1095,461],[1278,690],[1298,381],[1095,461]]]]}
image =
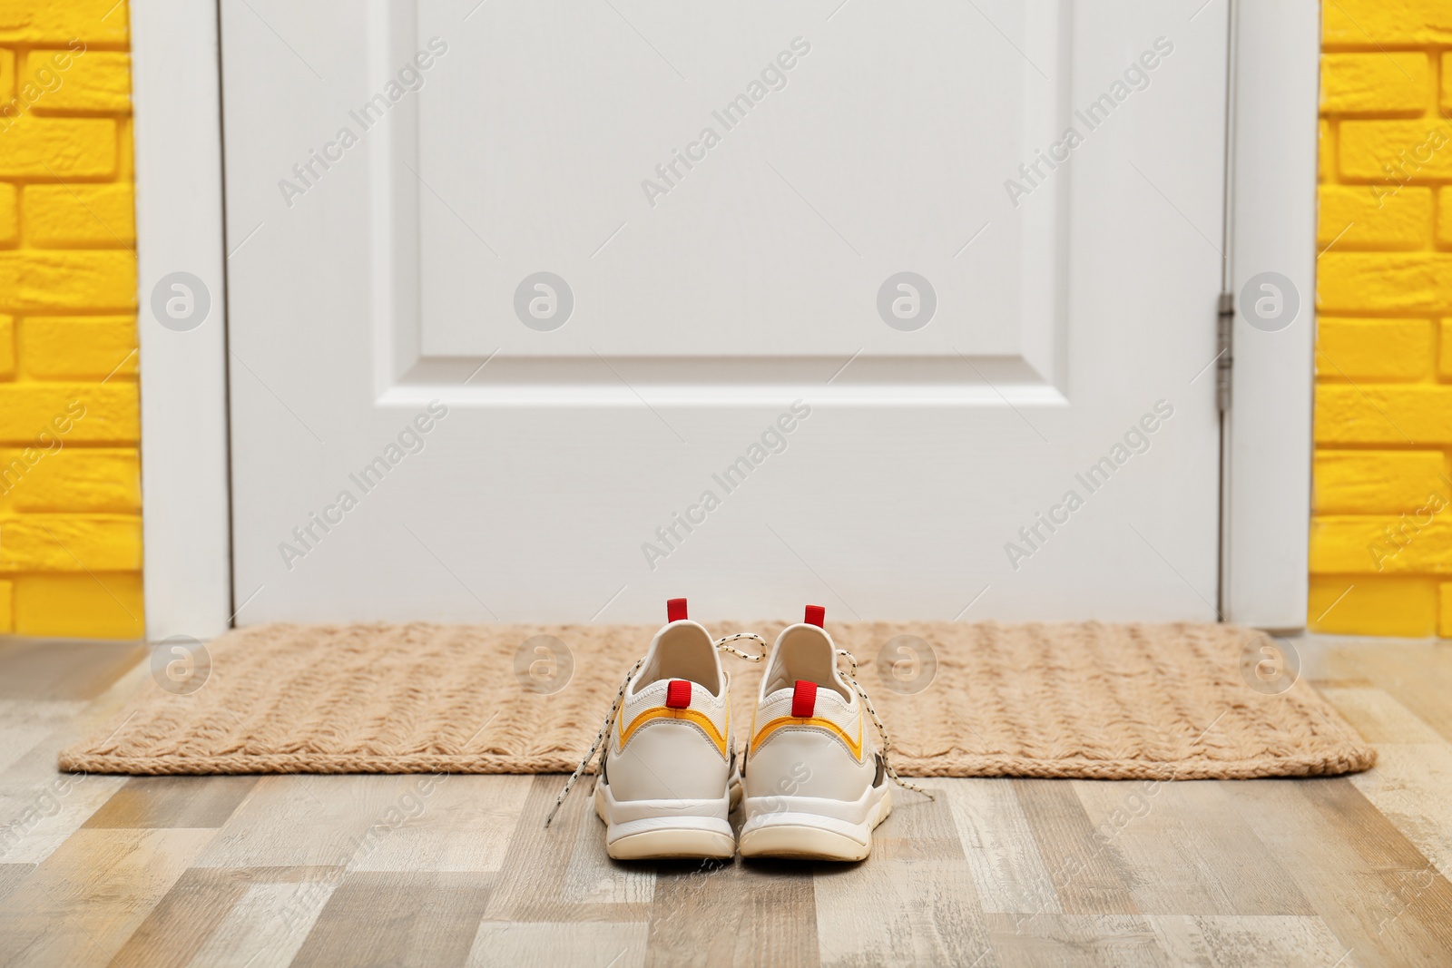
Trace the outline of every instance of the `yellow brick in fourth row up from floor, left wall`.
{"type": "Polygon", "coordinates": [[[121,380],[4,383],[0,443],[28,446],[45,432],[65,444],[134,444],[139,434],[136,402],[136,385],[121,380]]]}

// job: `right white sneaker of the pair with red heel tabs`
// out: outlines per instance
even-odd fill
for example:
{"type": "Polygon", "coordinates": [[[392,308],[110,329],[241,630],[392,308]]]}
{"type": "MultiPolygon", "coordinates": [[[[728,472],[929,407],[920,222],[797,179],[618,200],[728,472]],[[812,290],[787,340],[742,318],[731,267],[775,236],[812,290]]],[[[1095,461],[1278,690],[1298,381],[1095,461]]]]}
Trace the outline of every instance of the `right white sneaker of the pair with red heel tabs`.
{"type": "Polygon", "coordinates": [[[742,766],[743,858],[861,861],[893,810],[876,714],[838,670],[823,620],[807,605],[767,655],[742,766]]]}

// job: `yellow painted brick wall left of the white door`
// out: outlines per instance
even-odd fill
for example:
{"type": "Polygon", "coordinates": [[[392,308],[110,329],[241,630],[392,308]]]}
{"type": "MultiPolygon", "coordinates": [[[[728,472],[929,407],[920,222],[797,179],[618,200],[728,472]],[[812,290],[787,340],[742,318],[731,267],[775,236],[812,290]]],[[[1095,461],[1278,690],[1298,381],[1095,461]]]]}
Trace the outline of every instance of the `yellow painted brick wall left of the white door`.
{"type": "Polygon", "coordinates": [[[142,634],[128,19],[0,0],[0,633],[142,634]]]}

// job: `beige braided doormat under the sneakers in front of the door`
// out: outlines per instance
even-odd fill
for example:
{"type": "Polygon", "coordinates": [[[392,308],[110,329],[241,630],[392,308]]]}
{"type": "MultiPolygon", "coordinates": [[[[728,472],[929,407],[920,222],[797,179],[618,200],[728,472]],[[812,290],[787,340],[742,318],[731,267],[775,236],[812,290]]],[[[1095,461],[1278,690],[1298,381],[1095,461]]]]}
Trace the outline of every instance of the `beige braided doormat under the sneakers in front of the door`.
{"type": "MultiPolygon", "coordinates": [[[[751,630],[771,641],[781,627],[711,631],[751,630]]],[[[1305,682],[1279,695],[1247,685],[1241,666],[1262,656],[1259,633],[1246,628],[828,628],[858,657],[858,681],[905,775],[1310,776],[1362,771],[1375,760],[1305,682]],[[899,636],[926,647],[906,640],[915,650],[902,652],[899,636]],[[884,679],[884,666],[897,678],[884,679]]],[[[131,707],[64,750],[60,766],[103,774],[568,772],[653,633],[646,625],[421,623],[241,628],[211,643],[202,688],[176,695],[160,685],[164,676],[147,676],[131,707]],[[542,634],[565,643],[569,656],[536,650],[549,640],[520,652],[542,634]],[[539,691],[560,682],[553,692],[539,691]]],[[[761,665],[730,655],[722,662],[733,679],[741,745],[761,665]]]]}

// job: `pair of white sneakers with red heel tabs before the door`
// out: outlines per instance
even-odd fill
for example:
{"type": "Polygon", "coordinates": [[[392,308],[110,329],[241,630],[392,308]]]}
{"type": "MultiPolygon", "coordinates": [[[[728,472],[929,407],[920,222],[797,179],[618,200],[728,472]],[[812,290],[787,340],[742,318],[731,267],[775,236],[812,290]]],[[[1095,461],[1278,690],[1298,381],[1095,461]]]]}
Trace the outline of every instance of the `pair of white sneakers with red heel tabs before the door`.
{"type": "Polygon", "coordinates": [[[746,858],[864,859],[873,829],[893,808],[889,781],[918,788],[892,769],[887,733],[857,684],[857,662],[823,628],[825,610],[807,605],[804,621],[783,630],[765,655],[730,646],[749,639],[764,649],[756,634],[713,640],[687,617],[684,598],[666,602],[666,618],[546,826],[604,746],[595,813],[611,858],[730,858],[739,846],[746,858]],[[767,662],[743,756],[723,650],[767,662]],[[849,673],[838,669],[839,657],[851,662],[849,673]],[[738,803],[739,837],[729,820],[738,803]]]}

